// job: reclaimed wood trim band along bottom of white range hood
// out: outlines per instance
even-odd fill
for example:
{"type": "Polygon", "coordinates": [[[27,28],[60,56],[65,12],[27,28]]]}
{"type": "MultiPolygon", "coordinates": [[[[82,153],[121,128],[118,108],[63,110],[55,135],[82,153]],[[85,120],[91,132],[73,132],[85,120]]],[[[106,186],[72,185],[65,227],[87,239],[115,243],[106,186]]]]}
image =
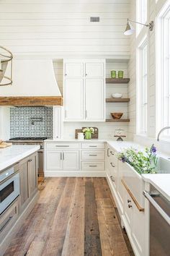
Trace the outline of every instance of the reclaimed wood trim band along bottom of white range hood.
{"type": "Polygon", "coordinates": [[[61,96],[0,97],[0,106],[63,106],[61,96]]]}

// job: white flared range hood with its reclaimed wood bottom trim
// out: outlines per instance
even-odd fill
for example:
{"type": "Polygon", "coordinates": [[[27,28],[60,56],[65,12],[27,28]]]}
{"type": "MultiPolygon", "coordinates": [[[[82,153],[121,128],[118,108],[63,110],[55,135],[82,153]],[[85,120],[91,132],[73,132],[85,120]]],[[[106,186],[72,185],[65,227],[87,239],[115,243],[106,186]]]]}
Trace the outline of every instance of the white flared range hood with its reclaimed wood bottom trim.
{"type": "Polygon", "coordinates": [[[12,85],[0,87],[0,106],[62,106],[52,59],[14,59],[12,85]]]}

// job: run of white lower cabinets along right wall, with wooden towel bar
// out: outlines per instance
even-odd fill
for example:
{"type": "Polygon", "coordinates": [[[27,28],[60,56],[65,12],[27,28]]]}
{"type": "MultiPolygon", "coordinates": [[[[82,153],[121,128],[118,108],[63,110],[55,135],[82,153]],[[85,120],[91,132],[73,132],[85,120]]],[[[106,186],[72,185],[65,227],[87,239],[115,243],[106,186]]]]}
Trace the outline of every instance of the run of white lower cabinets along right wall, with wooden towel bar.
{"type": "MultiPolygon", "coordinates": [[[[107,145],[106,154],[107,179],[120,213],[122,226],[125,226],[135,256],[148,256],[145,246],[146,213],[140,208],[138,200],[135,200],[135,195],[132,195],[128,189],[129,184],[123,184],[125,182],[123,179],[126,171],[125,164],[117,160],[115,149],[107,145]]],[[[132,186],[133,182],[132,179],[132,186]]]]}

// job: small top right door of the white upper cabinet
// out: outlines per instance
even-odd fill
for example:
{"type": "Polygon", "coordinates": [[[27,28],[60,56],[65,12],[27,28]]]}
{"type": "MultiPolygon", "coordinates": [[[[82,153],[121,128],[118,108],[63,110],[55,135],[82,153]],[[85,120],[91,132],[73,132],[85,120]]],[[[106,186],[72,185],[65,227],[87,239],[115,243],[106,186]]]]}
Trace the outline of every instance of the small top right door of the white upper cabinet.
{"type": "Polygon", "coordinates": [[[85,64],[85,76],[88,77],[104,77],[104,63],[90,63],[85,64]]]}

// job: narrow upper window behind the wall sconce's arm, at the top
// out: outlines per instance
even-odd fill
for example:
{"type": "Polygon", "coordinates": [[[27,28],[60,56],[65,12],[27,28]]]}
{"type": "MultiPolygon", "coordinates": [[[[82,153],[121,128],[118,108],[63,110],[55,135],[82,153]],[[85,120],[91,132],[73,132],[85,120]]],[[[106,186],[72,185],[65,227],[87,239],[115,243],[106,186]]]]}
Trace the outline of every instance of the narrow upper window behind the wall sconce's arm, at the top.
{"type": "MultiPolygon", "coordinates": [[[[147,0],[138,0],[137,1],[137,21],[145,24],[147,22],[147,0]]],[[[143,28],[143,25],[137,25],[137,33],[140,33],[140,30],[143,28]]]]}

